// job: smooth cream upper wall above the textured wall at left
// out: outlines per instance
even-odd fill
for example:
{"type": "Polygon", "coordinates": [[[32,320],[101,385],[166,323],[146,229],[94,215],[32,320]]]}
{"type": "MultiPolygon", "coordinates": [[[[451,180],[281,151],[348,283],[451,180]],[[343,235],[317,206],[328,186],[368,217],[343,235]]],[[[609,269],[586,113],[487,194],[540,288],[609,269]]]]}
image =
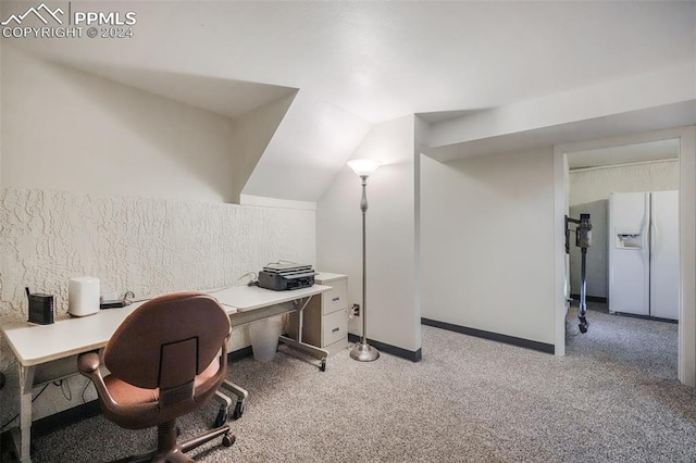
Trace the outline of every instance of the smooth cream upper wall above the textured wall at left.
{"type": "Polygon", "coordinates": [[[7,45],[1,77],[3,187],[214,202],[241,189],[229,118],[7,45]]]}

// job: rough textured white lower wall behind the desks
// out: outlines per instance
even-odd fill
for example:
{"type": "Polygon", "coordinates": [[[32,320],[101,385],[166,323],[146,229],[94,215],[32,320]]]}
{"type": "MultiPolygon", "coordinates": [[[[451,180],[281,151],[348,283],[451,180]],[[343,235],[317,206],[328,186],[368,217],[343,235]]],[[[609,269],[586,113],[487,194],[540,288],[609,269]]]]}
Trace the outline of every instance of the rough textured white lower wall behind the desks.
{"type": "MultiPolygon", "coordinates": [[[[74,276],[98,277],[102,293],[142,297],[243,285],[247,272],[277,260],[314,264],[315,225],[307,210],[5,188],[0,323],[27,318],[25,286],[54,295],[57,312],[66,312],[74,276]]],[[[248,346],[247,339],[245,329],[235,330],[231,348],[248,346]]],[[[10,375],[4,423],[17,411],[16,367],[4,338],[1,367],[10,375]]],[[[79,388],[73,384],[76,400],[79,388]]],[[[42,396],[35,418],[79,403],[63,402],[42,396]]]]}

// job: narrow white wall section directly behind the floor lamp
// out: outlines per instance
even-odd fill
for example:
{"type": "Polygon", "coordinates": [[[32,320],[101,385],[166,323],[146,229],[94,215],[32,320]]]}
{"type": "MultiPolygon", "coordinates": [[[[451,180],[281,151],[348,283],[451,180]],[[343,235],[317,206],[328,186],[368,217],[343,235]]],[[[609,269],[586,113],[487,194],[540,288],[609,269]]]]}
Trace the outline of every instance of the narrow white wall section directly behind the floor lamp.
{"type": "MultiPolygon", "coordinates": [[[[375,125],[352,155],[385,162],[368,179],[368,338],[421,348],[415,279],[414,116],[375,125]]],[[[362,304],[360,179],[345,166],[316,204],[318,268],[348,275],[349,303],[362,304]]],[[[361,334],[362,320],[348,330],[361,334]]]]}

